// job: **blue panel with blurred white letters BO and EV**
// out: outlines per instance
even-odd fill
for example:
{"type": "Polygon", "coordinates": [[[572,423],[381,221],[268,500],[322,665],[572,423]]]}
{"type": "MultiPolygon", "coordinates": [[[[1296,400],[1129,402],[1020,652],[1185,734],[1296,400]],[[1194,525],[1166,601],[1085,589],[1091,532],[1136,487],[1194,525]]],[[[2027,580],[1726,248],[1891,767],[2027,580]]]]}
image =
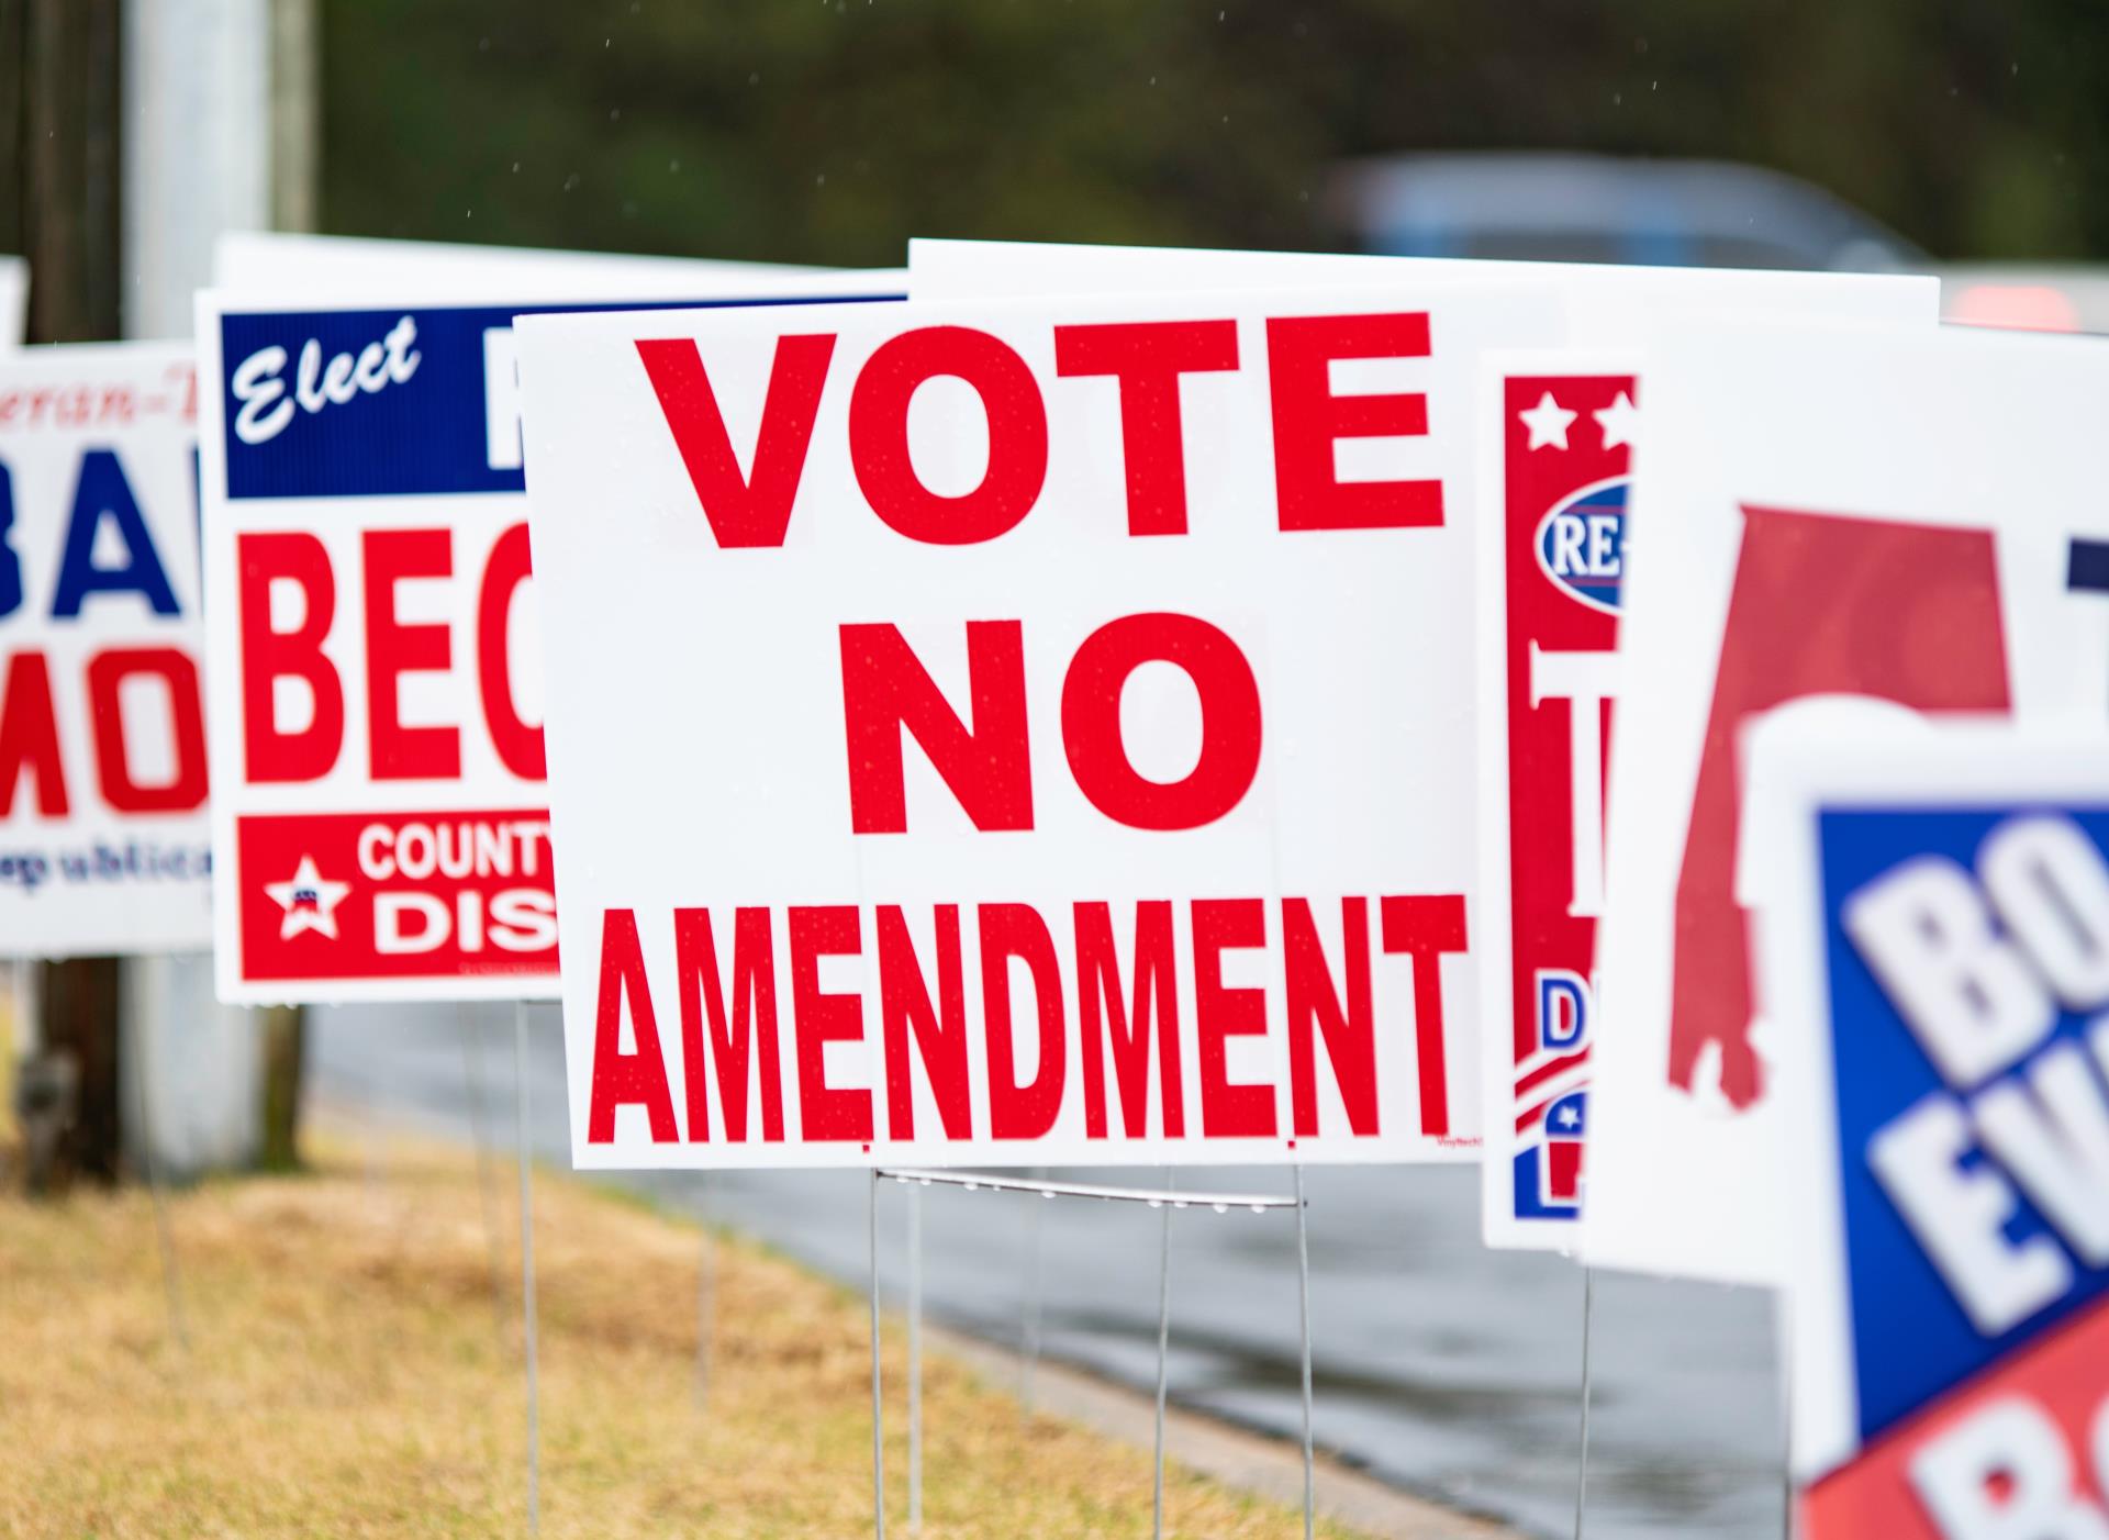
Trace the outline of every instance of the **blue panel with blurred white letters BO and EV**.
{"type": "Polygon", "coordinates": [[[2088,1040],[2105,1002],[2079,996],[2071,962],[2042,966],[2050,951],[2105,939],[2092,932],[2101,916],[2067,888],[2109,894],[2109,806],[1829,806],[1818,838],[1864,1443],[2109,1291],[2105,1173],[2088,1160],[2101,1154],[2090,1135],[2109,1133],[2105,1065],[2088,1040]],[[2001,840],[2001,854],[2018,850],[2016,831],[2046,835],[2033,840],[2046,854],[1995,859],[2008,880],[1987,899],[1987,854],[2001,840]],[[1856,935],[1854,903],[1907,882],[1923,907],[1898,913],[1926,949],[1921,966],[1883,977],[1864,911],[1856,935]],[[2018,935],[2016,918],[2063,935],[2018,935]],[[2014,1008],[1987,996],[1993,979],[2014,1008]],[[1959,1072],[1959,1038],[1942,1061],[1926,1027],[1938,992],[1957,1032],[2006,1034],[1985,1074],[1959,1072]],[[1907,1019],[1915,994],[1917,1032],[1907,1019]],[[2020,1023],[2018,1036],[1995,1027],[1999,1017],[2020,1023]]]}

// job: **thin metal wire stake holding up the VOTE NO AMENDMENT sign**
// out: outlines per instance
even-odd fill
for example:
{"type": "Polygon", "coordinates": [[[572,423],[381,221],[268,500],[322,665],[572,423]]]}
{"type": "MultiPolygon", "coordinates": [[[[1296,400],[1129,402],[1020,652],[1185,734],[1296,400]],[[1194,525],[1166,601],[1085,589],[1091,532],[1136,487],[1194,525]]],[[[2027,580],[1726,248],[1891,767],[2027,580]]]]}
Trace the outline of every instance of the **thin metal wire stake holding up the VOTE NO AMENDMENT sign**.
{"type": "Polygon", "coordinates": [[[886,1540],[886,1407],[879,1394],[879,1181],[901,1181],[909,1186],[909,1523],[922,1527],[922,1211],[920,1188],[930,1183],[966,1188],[979,1192],[1021,1192],[1038,1198],[1097,1198],[1101,1202],[1147,1202],[1164,1209],[1162,1259],[1158,1276],[1158,1424],[1156,1424],[1156,1475],[1152,1481],[1152,1536],[1164,1536],[1164,1384],[1166,1346],[1170,1342],[1170,1211],[1208,1205],[1217,1213],[1249,1209],[1265,1213],[1270,1209],[1297,1211],[1297,1289],[1303,1323],[1303,1534],[1312,1536],[1316,1523],[1316,1483],[1312,1466],[1312,1321],[1310,1321],[1310,1247],[1303,1234],[1303,1169],[1295,1171],[1295,1196],[1268,1192],[1179,1192],[1170,1181],[1164,1188],[1107,1188],[1090,1181],[1044,1181],[1025,1177],[991,1177],[979,1171],[924,1171],[924,1169],[875,1169],[871,1173],[871,1523],[873,1534],[886,1540]]]}

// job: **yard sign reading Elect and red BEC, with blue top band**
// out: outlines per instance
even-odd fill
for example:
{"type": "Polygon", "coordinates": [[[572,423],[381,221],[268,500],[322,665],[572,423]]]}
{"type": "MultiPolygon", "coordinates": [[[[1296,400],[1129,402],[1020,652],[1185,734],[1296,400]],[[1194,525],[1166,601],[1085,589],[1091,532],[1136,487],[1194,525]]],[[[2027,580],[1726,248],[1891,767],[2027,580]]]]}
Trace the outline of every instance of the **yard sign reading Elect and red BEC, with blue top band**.
{"type": "Polygon", "coordinates": [[[557,992],[534,308],[198,300],[221,1000],[557,992]]]}

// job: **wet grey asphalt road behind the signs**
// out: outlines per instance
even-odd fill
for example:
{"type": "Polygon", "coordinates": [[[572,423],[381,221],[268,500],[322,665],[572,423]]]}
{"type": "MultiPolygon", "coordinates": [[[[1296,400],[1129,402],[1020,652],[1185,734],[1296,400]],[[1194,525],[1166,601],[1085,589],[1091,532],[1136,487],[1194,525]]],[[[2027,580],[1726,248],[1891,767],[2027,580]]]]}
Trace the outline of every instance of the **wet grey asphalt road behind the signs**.
{"type": "MultiPolygon", "coordinates": [[[[310,1089],[335,1105],[470,1137],[472,1067],[487,1127],[512,1141],[512,1006],[318,1010],[310,1089]],[[475,1051],[468,1034],[475,1034],[475,1051]]],[[[531,1013],[531,1141],[565,1162],[563,1040],[531,1013]]],[[[1160,1186],[1160,1171],[1073,1173],[1160,1186]]],[[[863,1173],[637,1173],[671,1207],[707,1207],[820,1272],[863,1287],[863,1173]]],[[[1181,1186],[1286,1192],[1284,1171],[1192,1171],[1181,1186]]],[[[1474,1173],[1312,1169],[1316,1441],[1411,1491],[1573,1534],[1582,1274],[1559,1257],[1478,1245],[1474,1173]]],[[[907,1278],[907,1190],[879,1190],[882,1287],[907,1278]]],[[[1160,1213],[1141,1205],[924,1190],[932,1318],[1017,1344],[1038,1253],[1050,1359],[1156,1384],[1160,1213]]],[[[736,1329],[736,1323],[721,1323],[736,1329]]],[[[1284,1437],[1299,1430],[1295,1221],[1173,1219],[1170,1397],[1284,1437]]],[[[1757,1291],[1597,1274],[1588,1527],[1594,1540],[1734,1536],[1780,1525],[1780,1397],[1769,1300],[1757,1291]]]]}

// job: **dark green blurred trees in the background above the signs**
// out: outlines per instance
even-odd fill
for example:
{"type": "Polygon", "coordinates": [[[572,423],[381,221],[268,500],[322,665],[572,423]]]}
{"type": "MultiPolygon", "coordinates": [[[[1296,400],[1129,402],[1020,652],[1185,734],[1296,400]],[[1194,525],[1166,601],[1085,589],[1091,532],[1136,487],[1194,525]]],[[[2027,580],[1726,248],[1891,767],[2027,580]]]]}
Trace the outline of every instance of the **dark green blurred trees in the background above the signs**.
{"type": "Polygon", "coordinates": [[[2109,257],[2103,0],[325,0],[323,228],[896,264],[1337,245],[1407,150],[1744,160],[1942,257],[2109,257]]]}

